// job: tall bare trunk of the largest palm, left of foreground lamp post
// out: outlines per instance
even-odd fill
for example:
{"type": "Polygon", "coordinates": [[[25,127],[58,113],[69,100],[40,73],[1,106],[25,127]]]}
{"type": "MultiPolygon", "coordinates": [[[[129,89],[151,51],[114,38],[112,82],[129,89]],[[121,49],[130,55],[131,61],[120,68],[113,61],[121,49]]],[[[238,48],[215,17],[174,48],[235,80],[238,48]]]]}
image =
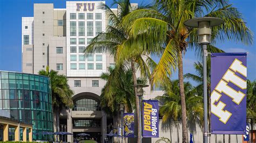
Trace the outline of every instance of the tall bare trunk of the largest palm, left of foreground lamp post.
{"type": "Polygon", "coordinates": [[[179,68],[179,92],[181,97],[181,123],[182,123],[182,142],[187,142],[187,126],[186,126],[186,102],[185,91],[183,83],[183,55],[182,50],[179,50],[178,54],[178,68],[179,68]]]}

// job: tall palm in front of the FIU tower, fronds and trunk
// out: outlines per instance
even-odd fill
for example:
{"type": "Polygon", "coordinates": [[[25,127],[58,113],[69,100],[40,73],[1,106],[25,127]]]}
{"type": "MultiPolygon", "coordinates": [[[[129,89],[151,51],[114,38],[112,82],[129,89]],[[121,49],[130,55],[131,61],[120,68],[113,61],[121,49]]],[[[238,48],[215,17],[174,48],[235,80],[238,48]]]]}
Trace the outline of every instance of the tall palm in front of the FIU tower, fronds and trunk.
{"type": "MultiPolygon", "coordinates": [[[[94,52],[109,52],[114,57],[116,62],[116,68],[111,73],[109,83],[105,85],[104,98],[108,106],[111,106],[114,101],[114,94],[112,85],[118,85],[118,75],[122,73],[122,70],[131,68],[133,85],[137,85],[137,70],[140,71],[140,75],[144,78],[149,78],[151,75],[151,69],[156,63],[151,60],[147,53],[140,53],[137,55],[129,56],[129,58],[122,59],[123,55],[119,51],[129,50],[133,45],[139,45],[138,40],[130,38],[128,36],[127,29],[120,25],[122,19],[128,15],[134,9],[145,8],[145,6],[132,7],[129,0],[117,0],[113,4],[118,5],[117,15],[109,8],[109,6],[102,4],[101,8],[106,11],[106,16],[109,18],[109,25],[106,27],[106,32],[99,33],[95,38],[91,40],[91,44],[85,49],[86,53],[94,52]],[[148,66],[149,65],[149,66],[148,66]]],[[[146,5],[147,6],[147,5],[146,5]]],[[[134,95],[137,95],[137,87],[134,86],[134,95]]],[[[136,112],[139,113],[139,98],[136,98],[136,112]]],[[[138,142],[140,142],[140,132],[142,129],[139,126],[139,116],[137,116],[138,122],[138,142]]]]}

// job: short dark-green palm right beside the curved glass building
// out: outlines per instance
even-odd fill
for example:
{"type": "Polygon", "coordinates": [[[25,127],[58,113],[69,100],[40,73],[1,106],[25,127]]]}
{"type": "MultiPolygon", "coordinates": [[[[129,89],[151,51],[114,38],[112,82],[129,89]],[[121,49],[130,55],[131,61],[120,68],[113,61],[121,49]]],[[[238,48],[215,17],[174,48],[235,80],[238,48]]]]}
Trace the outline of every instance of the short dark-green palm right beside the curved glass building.
{"type": "Polygon", "coordinates": [[[44,75],[50,78],[51,82],[51,95],[52,95],[52,109],[55,115],[56,131],[59,132],[59,112],[63,107],[72,108],[73,91],[70,89],[68,79],[64,75],[59,75],[58,71],[51,70],[46,67],[46,70],[40,70],[39,75],[44,75]]]}

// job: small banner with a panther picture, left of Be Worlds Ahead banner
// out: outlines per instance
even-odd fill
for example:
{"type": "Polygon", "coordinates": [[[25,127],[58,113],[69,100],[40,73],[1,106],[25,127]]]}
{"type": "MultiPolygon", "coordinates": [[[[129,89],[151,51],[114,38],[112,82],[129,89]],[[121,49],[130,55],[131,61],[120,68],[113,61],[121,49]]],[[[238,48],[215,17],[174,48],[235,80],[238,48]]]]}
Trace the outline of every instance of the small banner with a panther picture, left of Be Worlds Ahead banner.
{"type": "Polygon", "coordinates": [[[134,113],[124,113],[124,137],[134,138],[134,113]]]}

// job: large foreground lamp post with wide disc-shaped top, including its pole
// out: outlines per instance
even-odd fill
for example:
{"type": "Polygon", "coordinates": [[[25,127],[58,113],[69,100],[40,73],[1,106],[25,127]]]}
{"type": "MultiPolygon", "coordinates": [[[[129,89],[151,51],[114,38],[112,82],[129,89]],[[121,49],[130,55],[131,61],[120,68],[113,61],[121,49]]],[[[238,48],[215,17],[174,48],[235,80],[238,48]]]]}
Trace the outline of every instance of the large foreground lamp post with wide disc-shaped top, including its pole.
{"type": "Polygon", "coordinates": [[[211,27],[224,24],[224,20],[216,17],[201,17],[187,20],[184,23],[188,27],[198,27],[198,43],[203,47],[203,80],[204,80],[204,142],[208,142],[207,120],[207,45],[211,43],[211,27]]]}

